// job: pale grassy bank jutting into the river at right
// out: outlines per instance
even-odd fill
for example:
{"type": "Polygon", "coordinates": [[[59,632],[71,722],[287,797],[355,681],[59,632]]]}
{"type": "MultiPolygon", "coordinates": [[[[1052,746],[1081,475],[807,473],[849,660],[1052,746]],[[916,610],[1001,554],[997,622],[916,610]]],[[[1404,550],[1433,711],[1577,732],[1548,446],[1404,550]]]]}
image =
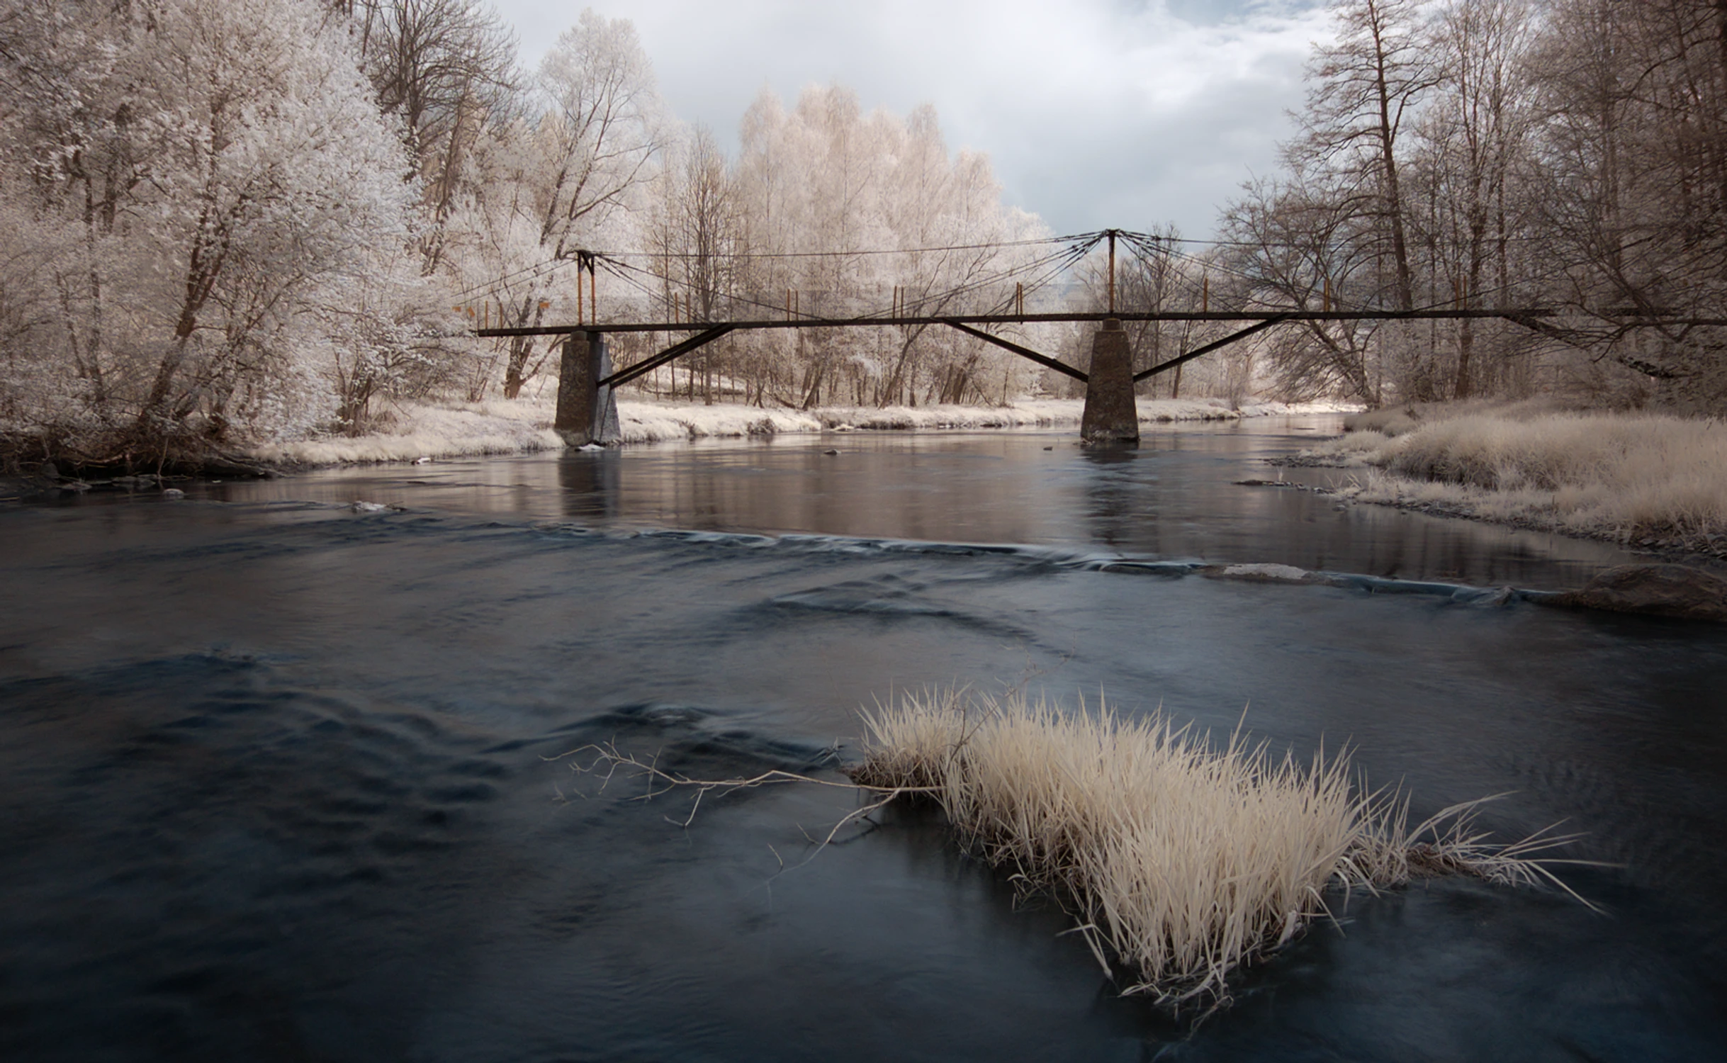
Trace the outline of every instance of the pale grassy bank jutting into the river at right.
{"type": "Polygon", "coordinates": [[[1359,466],[1356,500],[1727,554],[1727,425],[1660,414],[1387,414],[1307,452],[1359,466]],[[1395,435],[1392,435],[1395,431],[1395,435]]]}

